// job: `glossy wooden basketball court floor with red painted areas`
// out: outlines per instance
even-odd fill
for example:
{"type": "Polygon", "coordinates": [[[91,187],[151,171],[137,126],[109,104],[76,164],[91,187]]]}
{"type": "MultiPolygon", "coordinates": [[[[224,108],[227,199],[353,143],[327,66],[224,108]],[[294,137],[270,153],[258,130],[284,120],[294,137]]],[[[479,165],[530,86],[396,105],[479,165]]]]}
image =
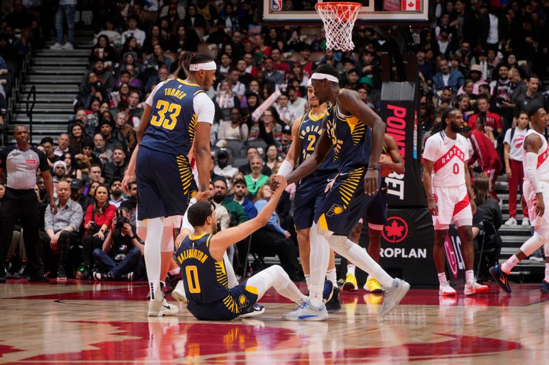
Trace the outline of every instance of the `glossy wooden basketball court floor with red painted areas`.
{"type": "MultiPolygon", "coordinates": [[[[301,289],[304,284],[299,283],[301,289]]],[[[382,297],[342,293],[326,322],[293,323],[295,305],[270,290],[261,316],[199,322],[184,307],[146,316],[147,284],[0,286],[1,364],[548,364],[549,295],[495,284],[488,294],[440,299],[412,288],[382,322],[382,297]]],[[[171,298],[170,298],[171,299],[171,298]]]]}

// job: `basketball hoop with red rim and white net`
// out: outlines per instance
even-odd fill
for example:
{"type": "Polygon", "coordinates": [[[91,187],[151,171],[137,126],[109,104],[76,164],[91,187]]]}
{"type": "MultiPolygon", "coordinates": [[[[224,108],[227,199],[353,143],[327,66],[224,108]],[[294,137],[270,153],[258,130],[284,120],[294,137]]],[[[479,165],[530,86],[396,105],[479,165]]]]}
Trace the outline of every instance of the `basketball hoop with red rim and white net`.
{"type": "Polygon", "coordinates": [[[327,49],[341,49],[342,51],[354,49],[351,33],[358,12],[362,9],[362,4],[335,1],[316,3],[314,8],[326,29],[327,49]]]}

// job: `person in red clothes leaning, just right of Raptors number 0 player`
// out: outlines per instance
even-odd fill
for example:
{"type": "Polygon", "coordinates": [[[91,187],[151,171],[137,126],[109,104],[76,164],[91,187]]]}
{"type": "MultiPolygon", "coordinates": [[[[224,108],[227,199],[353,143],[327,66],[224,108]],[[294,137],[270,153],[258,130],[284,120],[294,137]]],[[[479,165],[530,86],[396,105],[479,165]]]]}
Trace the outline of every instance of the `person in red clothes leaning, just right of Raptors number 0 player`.
{"type": "Polygon", "coordinates": [[[495,194],[494,184],[502,170],[502,160],[500,160],[498,151],[495,151],[493,142],[482,132],[483,130],[484,124],[482,123],[482,118],[478,119],[476,129],[471,130],[470,127],[463,128],[463,135],[469,138],[473,146],[473,155],[468,164],[472,166],[478,160],[478,167],[475,167],[473,170],[476,173],[483,172],[487,175],[490,180],[490,194],[493,199],[499,201],[498,195],[495,194]]]}

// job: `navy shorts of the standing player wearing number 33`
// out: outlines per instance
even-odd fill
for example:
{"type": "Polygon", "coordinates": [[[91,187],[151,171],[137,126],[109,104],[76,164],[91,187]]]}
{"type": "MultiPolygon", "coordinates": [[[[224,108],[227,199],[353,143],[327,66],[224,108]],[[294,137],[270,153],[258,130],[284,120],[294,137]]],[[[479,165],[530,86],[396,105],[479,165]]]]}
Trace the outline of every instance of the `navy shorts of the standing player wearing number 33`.
{"type": "Polygon", "coordinates": [[[140,220],[185,214],[189,197],[196,192],[187,156],[139,147],[135,170],[140,220]]]}

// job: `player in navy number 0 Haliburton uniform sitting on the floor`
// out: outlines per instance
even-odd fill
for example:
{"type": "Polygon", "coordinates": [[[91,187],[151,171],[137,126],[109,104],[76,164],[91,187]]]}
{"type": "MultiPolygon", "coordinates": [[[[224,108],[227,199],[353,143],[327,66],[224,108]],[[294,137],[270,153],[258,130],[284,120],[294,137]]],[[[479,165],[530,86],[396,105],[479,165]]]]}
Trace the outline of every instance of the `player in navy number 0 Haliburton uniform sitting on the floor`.
{"type": "MultiPolygon", "coordinates": [[[[229,289],[223,254],[231,244],[267,224],[286,186],[283,177],[276,179],[279,186],[257,217],[217,234],[217,218],[211,203],[200,202],[189,207],[187,216],[195,234],[186,236],[178,244],[176,257],[183,273],[187,309],[197,319],[232,320],[246,312],[271,287],[299,305],[307,303],[308,298],[279,265],[270,266],[229,289]]],[[[331,294],[332,288],[326,292],[331,294]]]]}

